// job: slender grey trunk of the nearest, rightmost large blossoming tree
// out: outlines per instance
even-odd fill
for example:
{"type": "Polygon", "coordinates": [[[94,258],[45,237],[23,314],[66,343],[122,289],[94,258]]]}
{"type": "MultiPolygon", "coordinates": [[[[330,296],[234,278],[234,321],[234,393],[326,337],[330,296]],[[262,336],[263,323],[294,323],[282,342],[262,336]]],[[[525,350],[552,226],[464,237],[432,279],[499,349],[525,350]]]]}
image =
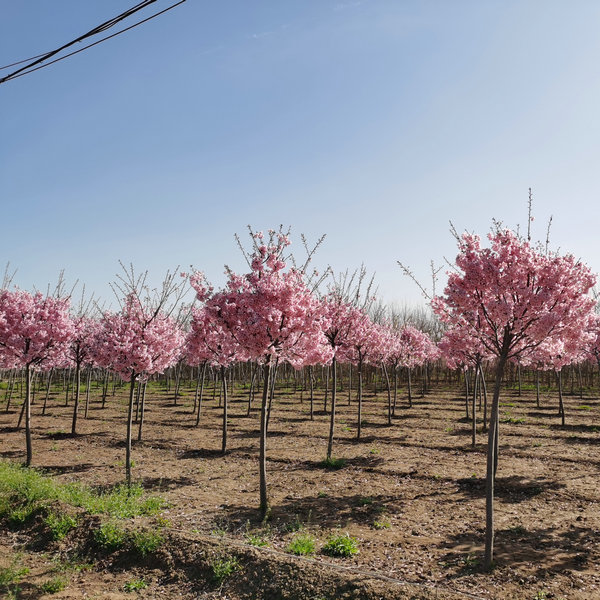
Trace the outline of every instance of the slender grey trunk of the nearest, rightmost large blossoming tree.
{"type": "Polygon", "coordinates": [[[494,396],[492,398],[492,412],[488,431],[487,473],[485,480],[485,559],[486,569],[490,569],[494,562],[494,483],[498,452],[498,412],[500,403],[500,387],[504,377],[504,366],[508,356],[510,340],[504,333],[502,353],[496,366],[496,380],[494,382],[494,396]]]}

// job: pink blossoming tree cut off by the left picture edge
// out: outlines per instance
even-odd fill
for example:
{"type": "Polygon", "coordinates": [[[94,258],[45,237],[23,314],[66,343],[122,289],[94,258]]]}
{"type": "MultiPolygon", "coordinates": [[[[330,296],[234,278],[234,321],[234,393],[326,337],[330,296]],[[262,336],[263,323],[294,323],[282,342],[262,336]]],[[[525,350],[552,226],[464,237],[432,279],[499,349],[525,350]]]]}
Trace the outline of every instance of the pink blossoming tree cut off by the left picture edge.
{"type": "Polygon", "coordinates": [[[25,369],[25,441],[31,465],[31,372],[64,360],[73,335],[69,299],[0,290],[0,348],[7,364],[25,369]]]}

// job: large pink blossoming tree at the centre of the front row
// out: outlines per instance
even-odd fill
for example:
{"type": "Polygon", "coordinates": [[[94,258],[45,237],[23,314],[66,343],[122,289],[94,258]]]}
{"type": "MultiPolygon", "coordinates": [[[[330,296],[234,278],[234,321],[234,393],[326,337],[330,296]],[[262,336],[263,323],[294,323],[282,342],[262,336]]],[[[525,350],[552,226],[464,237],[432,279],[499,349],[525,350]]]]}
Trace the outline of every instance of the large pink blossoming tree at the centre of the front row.
{"type": "Polygon", "coordinates": [[[190,281],[198,299],[219,326],[226,329],[250,359],[264,366],[260,415],[260,512],[270,513],[267,493],[266,440],[267,403],[271,383],[271,365],[277,360],[300,362],[311,346],[323,343],[320,303],[303,279],[303,272],[286,270],[284,252],[290,241],[281,231],[252,235],[254,251],[249,257],[250,272],[237,275],[228,270],[225,288],[208,295],[206,286],[194,276],[190,281]]]}

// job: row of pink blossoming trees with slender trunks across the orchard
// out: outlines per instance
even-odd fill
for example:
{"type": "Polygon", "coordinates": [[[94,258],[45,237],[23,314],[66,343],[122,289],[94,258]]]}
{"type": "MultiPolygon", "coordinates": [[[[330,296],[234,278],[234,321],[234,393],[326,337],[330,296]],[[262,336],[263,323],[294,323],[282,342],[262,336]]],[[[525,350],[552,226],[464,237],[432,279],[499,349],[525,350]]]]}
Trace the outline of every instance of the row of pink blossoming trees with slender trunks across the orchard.
{"type": "MultiPolygon", "coordinates": [[[[472,367],[483,379],[482,364],[496,364],[488,433],[486,563],[493,560],[494,477],[498,463],[498,403],[508,361],[560,370],[585,355],[598,359],[598,321],[589,296],[594,277],[572,256],[534,248],[508,230],[490,234],[483,248],[474,235],[459,238],[456,270],[444,295],[432,307],[446,327],[439,346],[413,327],[375,322],[340,287],[318,295],[305,268],[287,268],[289,239],[281,230],[267,239],[253,233],[250,270],[227,271],[227,283],[215,291],[200,272],[188,279],[198,304],[184,333],[173,310],[182,285],[170,275],[160,293],[144,295],[143,280],[133,273],[122,290],[121,310],[99,319],[69,316],[68,300],[20,290],[0,292],[0,361],[4,368],[25,370],[24,402],[27,464],[31,463],[30,381],[34,369],[82,365],[110,369],[130,384],[127,419],[126,474],[131,481],[131,427],[137,380],[164,371],[181,360],[217,366],[224,394],[223,449],[226,447],[227,385],[225,370],[240,361],[262,365],[260,412],[260,512],[269,514],[266,472],[268,399],[272,373],[278,365],[295,368],[330,365],[331,421],[327,458],[331,459],[336,409],[337,365],[356,365],[358,373],[358,435],[362,408],[362,367],[378,364],[388,380],[400,366],[412,368],[437,358],[472,367]],[[595,345],[596,344],[596,345],[595,345]]],[[[599,363],[600,364],[600,363],[599,363]]],[[[410,371],[409,371],[410,372],[410,371]]],[[[476,397],[476,388],[473,398],[476,397]]],[[[389,397],[388,421],[392,402],[389,397]]],[[[76,393],[72,430],[75,431],[76,393]]],[[[474,400],[475,401],[475,400],[474,400]]],[[[475,427],[474,406],[473,425],[475,427]]]]}

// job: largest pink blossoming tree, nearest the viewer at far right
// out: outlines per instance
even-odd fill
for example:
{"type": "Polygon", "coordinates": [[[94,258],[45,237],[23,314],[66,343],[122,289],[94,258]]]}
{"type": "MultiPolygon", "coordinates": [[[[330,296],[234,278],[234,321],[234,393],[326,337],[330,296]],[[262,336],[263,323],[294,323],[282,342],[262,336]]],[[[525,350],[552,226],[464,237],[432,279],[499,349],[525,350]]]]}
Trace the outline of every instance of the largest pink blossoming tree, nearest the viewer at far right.
{"type": "Polygon", "coordinates": [[[443,297],[432,305],[442,321],[478,339],[497,357],[488,431],[485,565],[494,548],[494,477],[500,385],[506,362],[530,352],[548,337],[575,342],[587,330],[594,301],[588,296],[595,278],[573,256],[546,255],[509,230],[459,239],[456,272],[448,276],[443,297]],[[576,326],[574,326],[576,324],[576,326]]]}

